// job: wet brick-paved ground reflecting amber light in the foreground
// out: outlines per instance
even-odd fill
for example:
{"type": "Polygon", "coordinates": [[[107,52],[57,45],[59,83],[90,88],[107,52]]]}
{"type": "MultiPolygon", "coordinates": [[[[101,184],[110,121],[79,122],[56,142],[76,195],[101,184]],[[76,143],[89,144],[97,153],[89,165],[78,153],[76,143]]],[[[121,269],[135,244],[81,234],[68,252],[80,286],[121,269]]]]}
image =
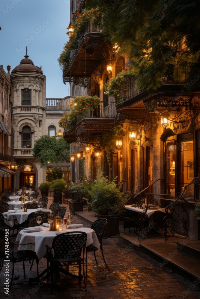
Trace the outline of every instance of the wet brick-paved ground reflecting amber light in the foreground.
{"type": "MultiPolygon", "coordinates": [[[[73,216],[73,223],[86,222],[73,216]]],[[[53,293],[46,282],[28,284],[29,277],[36,276],[36,263],[30,271],[29,262],[25,263],[26,278],[23,277],[23,266],[21,263],[15,265],[12,289],[9,295],[4,294],[4,272],[3,267],[0,277],[0,295],[3,298],[31,299],[31,298],[120,298],[120,299],[175,299],[175,298],[200,298],[198,289],[193,289],[190,282],[178,274],[170,273],[168,269],[160,269],[159,264],[138,251],[130,249],[122,244],[117,237],[103,240],[104,256],[110,268],[107,271],[102,256],[97,253],[99,266],[96,266],[94,256],[88,253],[88,292],[84,290],[84,284],[78,285],[78,281],[62,274],[61,284],[55,285],[53,293]]],[[[39,263],[40,273],[46,268],[46,260],[39,263]]],[[[70,271],[77,273],[77,266],[71,266],[70,271]]],[[[10,265],[10,274],[12,266],[10,265]]]]}

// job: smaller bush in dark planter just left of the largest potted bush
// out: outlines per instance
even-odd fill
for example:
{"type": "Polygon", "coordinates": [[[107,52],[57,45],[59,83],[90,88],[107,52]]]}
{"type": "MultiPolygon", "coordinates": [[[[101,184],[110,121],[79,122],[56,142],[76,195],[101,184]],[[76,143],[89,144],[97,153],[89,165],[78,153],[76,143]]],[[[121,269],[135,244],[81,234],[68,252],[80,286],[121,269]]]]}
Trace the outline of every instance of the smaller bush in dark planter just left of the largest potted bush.
{"type": "Polygon", "coordinates": [[[68,188],[69,193],[71,194],[72,201],[70,203],[70,210],[74,214],[74,212],[82,212],[83,211],[83,187],[82,184],[76,185],[73,184],[68,188]]]}

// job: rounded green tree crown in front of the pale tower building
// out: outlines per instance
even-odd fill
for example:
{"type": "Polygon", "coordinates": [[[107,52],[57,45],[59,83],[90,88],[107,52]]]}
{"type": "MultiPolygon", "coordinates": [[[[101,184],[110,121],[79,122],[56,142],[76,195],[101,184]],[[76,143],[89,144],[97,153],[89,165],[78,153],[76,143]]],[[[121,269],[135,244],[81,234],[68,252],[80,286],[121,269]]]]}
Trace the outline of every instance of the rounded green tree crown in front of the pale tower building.
{"type": "Polygon", "coordinates": [[[59,163],[70,162],[70,144],[62,136],[58,138],[43,135],[35,141],[33,156],[40,160],[40,167],[46,166],[48,161],[59,163]]]}

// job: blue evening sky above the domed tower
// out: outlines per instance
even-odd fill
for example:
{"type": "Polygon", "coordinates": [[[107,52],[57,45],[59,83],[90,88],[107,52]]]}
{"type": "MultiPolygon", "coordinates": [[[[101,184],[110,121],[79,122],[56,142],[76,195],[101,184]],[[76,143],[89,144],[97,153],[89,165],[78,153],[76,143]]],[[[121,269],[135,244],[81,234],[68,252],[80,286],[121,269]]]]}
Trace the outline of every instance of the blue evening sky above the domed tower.
{"type": "Polygon", "coordinates": [[[67,41],[70,0],[1,0],[0,64],[11,71],[25,55],[34,65],[42,65],[46,76],[46,97],[68,95],[69,85],[62,81],[58,57],[67,41]],[[31,38],[30,38],[31,37],[31,38]]]}

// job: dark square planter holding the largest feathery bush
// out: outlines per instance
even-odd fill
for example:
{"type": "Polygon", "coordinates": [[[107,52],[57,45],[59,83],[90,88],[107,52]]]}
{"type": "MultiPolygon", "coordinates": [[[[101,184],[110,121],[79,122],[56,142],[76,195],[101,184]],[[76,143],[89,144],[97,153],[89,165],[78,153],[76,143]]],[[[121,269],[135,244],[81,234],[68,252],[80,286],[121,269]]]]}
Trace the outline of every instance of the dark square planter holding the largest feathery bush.
{"type": "Polygon", "coordinates": [[[106,218],[108,220],[104,237],[116,236],[119,234],[119,217],[120,215],[97,215],[98,219],[106,218]]]}

